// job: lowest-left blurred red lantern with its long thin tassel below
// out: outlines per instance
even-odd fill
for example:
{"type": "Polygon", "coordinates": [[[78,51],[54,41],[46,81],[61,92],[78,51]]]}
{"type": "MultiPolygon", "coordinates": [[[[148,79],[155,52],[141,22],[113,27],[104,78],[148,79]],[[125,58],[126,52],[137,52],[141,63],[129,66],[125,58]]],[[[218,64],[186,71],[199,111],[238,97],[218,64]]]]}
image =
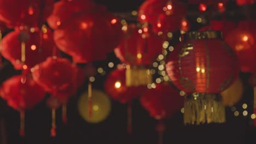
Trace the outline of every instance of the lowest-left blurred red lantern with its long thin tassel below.
{"type": "Polygon", "coordinates": [[[16,75],[3,82],[1,97],[13,109],[20,111],[20,135],[25,134],[25,110],[40,103],[45,91],[30,76],[16,75]]]}

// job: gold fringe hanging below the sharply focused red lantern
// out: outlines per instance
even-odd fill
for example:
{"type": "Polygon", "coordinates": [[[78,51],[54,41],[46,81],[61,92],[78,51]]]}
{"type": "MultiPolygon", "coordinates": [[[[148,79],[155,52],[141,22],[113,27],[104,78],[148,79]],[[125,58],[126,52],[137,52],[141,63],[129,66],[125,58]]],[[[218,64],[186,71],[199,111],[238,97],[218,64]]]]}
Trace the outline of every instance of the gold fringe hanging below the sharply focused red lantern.
{"type": "Polygon", "coordinates": [[[193,93],[185,96],[184,124],[224,123],[225,107],[221,95],[193,93]]]}

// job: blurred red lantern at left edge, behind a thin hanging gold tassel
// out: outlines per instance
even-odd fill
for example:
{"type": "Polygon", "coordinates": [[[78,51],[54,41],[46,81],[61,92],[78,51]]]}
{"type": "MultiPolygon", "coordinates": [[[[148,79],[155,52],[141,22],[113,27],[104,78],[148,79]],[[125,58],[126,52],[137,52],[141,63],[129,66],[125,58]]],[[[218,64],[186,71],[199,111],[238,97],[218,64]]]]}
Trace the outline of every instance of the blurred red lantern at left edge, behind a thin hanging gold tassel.
{"type": "Polygon", "coordinates": [[[34,65],[45,61],[46,57],[53,55],[53,32],[43,28],[39,32],[13,31],[5,35],[2,40],[2,55],[8,59],[15,69],[30,69],[34,65]],[[25,63],[21,62],[20,35],[26,35],[25,63]],[[25,65],[24,65],[25,64],[25,65]]]}

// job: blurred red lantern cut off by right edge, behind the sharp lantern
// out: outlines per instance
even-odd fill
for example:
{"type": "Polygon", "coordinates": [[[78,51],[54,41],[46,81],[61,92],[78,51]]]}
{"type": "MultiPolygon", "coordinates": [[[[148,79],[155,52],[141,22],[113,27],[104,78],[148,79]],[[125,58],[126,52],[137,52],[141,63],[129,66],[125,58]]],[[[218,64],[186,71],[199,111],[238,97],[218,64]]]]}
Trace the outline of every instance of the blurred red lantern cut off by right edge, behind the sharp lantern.
{"type": "MultiPolygon", "coordinates": [[[[256,22],[254,22],[256,24],[256,22]]],[[[240,22],[239,27],[231,31],[225,41],[236,51],[241,70],[253,73],[256,62],[256,29],[254,24],[240,22]]]]}

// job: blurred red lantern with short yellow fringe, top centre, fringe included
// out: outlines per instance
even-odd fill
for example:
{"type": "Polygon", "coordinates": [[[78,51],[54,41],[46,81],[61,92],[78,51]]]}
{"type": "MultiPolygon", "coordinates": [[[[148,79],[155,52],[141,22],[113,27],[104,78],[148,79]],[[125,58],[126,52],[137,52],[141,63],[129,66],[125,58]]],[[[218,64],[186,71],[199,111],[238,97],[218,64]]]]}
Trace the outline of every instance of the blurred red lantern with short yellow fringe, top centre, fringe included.
{"type": "Polygon", "coordinates": [[[130,25],[124,39],[115,49],[115,55],[126,67],[126,86],[140,86],[152,83],[147,67],[152,65],[162,52],[162,39],[148,27],[136,28],[130,25]]]}

